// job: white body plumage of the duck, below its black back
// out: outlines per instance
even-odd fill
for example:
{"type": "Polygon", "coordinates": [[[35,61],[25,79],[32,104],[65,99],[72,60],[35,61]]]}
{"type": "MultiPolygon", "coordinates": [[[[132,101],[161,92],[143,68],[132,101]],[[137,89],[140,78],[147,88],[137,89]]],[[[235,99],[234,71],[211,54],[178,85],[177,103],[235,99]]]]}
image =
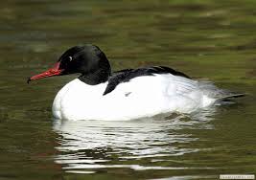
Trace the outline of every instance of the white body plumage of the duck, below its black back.
{"type": "Polygon", "coordinates": [[[160,113],[191,113],[216,99],[200,82],[171,74],[144,76],[120,83],[103,96],[107,82],[88,85],[74,79],[59,92],[53,114],[62,120],[126,121],[160,113]]]}

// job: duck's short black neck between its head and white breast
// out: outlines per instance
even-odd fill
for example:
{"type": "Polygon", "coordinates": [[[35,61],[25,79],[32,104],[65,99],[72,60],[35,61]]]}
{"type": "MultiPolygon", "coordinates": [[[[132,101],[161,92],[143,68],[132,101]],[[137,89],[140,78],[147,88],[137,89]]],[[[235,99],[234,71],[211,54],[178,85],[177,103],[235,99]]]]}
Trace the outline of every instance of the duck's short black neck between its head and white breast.
{"type": "Polygon", "coordinates": [[[104,83],[105,81],[108,80],[108,78],[110,77],[111,72],[108,70],[98,70],[94,73],[90,73],[87,75],[82,74],[79,79],[89,85],[97,85],[100,83],[104,83]]]}

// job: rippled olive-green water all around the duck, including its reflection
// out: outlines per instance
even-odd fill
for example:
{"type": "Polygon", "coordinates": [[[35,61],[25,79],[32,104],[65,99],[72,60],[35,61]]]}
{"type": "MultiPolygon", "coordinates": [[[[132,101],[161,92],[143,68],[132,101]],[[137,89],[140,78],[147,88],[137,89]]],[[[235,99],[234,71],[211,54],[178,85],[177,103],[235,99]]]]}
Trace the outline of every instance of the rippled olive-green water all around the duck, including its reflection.
{"type": "Polygon", "coordinates": [[[219,179],[256,173],[253,0],[0,3],[0,179],[219,179]],[[26,79],[93,43],[114,70],[166,65],[247,96],[191,117],[53,124],[76,76],[26,79]]]}

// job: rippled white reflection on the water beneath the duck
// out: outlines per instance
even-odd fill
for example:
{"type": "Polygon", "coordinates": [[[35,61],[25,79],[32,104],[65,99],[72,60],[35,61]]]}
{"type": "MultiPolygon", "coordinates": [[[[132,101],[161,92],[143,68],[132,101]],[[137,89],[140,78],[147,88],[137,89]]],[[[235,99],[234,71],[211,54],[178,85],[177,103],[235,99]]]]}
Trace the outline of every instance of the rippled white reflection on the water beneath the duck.
{"type": "Polygon", "coordinates": [[[59,155],[55,161],[63,165],[66,171],[74,173],[94,173],[92,169],[108,168],[189,169],[144,167],[134,165],[134,161],[132,165],[120,165],[120,162],[142,158],[150,158],[151,162],[164,161],[161,157],[198,151],[198,148],[181,146],[197,141],[198,138],[181,133],[180,130],[213,128],[208,123],[214,112],[215,109],[211,108],[190,116],[158,115],[128,122],[56,121],[54,130],[60,136],[56,147],[59,155]],[[118,158],[119,165],[115,164],[114,158],[118,158]],[[113,162],[109,164],[109,161],[113,162]]]}

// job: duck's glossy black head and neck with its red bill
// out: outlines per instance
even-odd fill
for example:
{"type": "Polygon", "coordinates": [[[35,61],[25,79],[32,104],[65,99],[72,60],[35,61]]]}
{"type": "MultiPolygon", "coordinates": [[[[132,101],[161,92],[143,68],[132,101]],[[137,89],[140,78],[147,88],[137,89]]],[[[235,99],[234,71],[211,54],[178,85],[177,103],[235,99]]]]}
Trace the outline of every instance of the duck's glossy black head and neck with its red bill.
{"type": "Polygon", "coordinates": [[[105,82],[111,74],[110,64],[99,47],[86,44],[68,49],[48,71],[35,75],[28,82],[53,76],[80,73],[81,81],[95,85],[105,82]]]}

